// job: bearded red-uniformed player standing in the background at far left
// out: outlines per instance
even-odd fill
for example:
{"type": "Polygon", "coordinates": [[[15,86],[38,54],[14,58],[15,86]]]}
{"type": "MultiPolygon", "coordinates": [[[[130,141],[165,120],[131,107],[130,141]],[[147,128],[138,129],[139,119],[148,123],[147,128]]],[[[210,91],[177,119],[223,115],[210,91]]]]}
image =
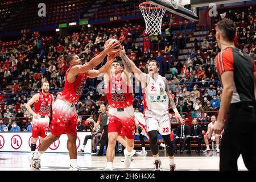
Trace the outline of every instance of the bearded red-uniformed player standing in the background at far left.
{"type": "MultiPolygon", "coordinates": [[[[43,81],[42,92],[35,94],[26,104],[27,110],[33,115],[31,152],[36,149],[38,137],[40,136],[43,140],[47,136],[53,100],[53,95],[49,93],[49,82],[43,81]],[[34,111],[31,109],[32,104],[34,104],[34,111]]],[[[31,160],[30,157],[29,160],[31,160]]]]}

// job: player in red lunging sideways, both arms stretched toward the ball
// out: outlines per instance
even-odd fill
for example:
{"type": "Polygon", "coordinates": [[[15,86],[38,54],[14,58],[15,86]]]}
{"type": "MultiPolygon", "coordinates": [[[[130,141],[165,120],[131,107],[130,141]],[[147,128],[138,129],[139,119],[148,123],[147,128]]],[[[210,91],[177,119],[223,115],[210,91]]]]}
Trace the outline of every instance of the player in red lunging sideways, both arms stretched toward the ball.
{"type": "Polygon", "coordinates": [[[118,47],[119,44],[117,43],[108,44],[104,51],[83,65],[81,65],[82,61],[78,55],[72,54],[67,56],[66,60],[69,68],[65,73],[64,91],[58,94],[57,100],[52,106],[51,134],[42,141],[38,150],[33,152],[31,169],[39,170],[40,156],[49,146],[51,146],[53,142],[60,138],[61,134],[67,134],[67,148],[69,151],[69,158],[71,159],[69,170],[80,170],[79,166],[77,166],[77,111],[75,104],[77,104],[77,101],[84,90],[86,78],[94,78],[99,76],[101,73],[106,72],[112,63],[108,61],[99,70],[90,69],[100,64],[109,52],[118,47]]]}

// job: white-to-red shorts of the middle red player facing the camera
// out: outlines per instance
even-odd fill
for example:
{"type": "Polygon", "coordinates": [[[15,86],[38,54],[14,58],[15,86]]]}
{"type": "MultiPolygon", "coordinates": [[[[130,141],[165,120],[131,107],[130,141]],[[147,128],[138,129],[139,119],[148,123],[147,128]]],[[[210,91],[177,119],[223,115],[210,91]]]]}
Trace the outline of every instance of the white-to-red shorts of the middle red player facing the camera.
{"type": "Polygon", "coordinates": [[[134,139],[135,121],[133,106],[121,109],[110,107],[108,133],[110,132],[117,132],[118,135],[134,139]]]}

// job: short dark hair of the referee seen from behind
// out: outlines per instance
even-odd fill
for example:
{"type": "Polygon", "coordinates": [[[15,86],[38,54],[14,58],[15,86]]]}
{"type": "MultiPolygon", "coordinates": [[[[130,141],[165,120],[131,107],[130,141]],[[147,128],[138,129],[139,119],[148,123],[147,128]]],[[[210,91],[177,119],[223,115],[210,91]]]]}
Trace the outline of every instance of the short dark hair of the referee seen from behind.
{"type": "Polygon", "coordinates": [[[234,37],[236,36],[237,27],[233,20],[229,18],[224,18],[220,20],[217,24],[217,30],[220,31],[222,37],[229,42],[234,41],[234,37]]]}

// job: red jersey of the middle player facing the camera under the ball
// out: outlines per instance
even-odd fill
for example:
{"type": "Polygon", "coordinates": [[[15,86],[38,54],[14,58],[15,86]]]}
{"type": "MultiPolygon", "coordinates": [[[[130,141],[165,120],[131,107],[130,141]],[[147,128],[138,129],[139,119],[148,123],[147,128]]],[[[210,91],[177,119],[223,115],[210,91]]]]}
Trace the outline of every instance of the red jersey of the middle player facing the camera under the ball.
{"type": "Polygon", "coordinates": [[[122,77],[112,76],[107,88],[108,102],[110,107],[125,108],[133,105],[133,90],[128,86],[122,77]]]}

